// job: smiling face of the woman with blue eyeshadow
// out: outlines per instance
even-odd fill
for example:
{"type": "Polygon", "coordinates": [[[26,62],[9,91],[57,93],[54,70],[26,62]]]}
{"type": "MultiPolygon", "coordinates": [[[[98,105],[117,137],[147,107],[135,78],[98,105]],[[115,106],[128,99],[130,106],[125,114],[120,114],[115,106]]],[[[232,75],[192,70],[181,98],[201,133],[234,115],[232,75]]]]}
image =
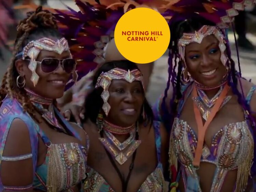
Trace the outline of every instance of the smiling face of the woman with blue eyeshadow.
{"type": "Polygon", "coordinates": [[[198,83],[214,87],[227,73],[222,64],[219,42],[214,35],[206,36],[201,44],[190,43],[185,49],[185,61],[191,76],[198,83]],[[216,72],[216,73],[215,73],[216,72]]]}

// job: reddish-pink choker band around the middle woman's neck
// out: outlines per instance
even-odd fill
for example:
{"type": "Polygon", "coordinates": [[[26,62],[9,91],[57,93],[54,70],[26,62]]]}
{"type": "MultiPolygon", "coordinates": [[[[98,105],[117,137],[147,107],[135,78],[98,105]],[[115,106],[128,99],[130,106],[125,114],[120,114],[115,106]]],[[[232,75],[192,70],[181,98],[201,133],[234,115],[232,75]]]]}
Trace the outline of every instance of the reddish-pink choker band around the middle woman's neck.
{"type": "Polygon", "coordinates": [[[114,124],[104,120],[103,129],[110,133],[122,135],[122,134],[128,134],[132,130],[135,130],[135,124],[133,124],[129,127],[120,127],[120,126],[114,125],[114,124]]]}

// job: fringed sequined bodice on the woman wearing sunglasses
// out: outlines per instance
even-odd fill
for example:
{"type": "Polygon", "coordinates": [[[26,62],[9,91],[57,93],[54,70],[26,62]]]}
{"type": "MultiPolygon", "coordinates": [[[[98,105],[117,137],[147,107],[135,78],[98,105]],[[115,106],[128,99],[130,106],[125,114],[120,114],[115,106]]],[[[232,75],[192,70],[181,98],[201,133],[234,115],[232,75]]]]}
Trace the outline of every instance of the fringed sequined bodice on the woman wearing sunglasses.
{"type": "Polygon", "coordinates": [[[76,186],[86,177],[86,159],[87,150],[77,143],[50,145],[44,163],[36,168],[34,189],[60,192],[76,186]]]}

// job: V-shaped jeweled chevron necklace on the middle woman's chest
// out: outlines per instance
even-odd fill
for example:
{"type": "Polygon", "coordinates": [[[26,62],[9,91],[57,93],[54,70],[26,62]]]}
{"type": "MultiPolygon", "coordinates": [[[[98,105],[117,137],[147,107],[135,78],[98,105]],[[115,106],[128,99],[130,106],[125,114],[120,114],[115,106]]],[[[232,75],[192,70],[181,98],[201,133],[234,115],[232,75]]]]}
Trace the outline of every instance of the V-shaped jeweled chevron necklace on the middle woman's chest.
{"type": "Polygon", "coordinates": [[[119,140],[109,131],[104,130],[104,133],[107,138],[103,138],[102,135],[99,139],[105,149],[120,165],[124,164],[141,144],[141,141],[135,139],[135,129],[130,132],[130,136],[123,143],[119,142],[119,140]]]}

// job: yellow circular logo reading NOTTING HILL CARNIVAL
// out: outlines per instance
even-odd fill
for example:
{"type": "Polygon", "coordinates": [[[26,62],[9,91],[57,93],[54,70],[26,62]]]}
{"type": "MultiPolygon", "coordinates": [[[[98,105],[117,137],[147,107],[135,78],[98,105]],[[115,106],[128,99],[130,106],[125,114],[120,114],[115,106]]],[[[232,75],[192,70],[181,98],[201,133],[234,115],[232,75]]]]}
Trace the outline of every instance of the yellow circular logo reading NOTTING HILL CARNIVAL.
{"type": "Polygon", "coordinates": [[[114,33],[118,51],[134,63],[150,63],[159,59],[170,42],[166,19],[149,8],[126,12],[117,22],[114,33]]]}

